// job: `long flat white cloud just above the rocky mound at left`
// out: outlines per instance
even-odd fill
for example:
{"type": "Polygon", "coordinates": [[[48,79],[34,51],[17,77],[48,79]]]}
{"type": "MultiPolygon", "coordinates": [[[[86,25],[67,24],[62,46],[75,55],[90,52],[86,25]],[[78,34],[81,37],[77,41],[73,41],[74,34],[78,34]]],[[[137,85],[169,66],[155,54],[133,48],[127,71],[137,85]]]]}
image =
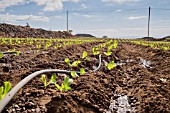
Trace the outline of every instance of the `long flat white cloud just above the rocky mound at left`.
{"type": "Polygon", "coordinates": [[[33,21],[49,21],[48,17],[44,16],[35,16],[35,15],[10,15],[10,14],[0,14],[0,21],[24,21],[24,20],[33,20],[33,21]]]}

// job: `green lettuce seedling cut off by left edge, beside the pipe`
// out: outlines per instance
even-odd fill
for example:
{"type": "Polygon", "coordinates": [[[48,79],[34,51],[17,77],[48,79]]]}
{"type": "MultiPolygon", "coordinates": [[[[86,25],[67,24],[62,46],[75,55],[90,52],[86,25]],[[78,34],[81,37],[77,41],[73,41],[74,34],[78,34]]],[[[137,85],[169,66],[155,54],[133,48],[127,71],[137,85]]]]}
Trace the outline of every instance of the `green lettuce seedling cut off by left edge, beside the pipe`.
{"type": "Polygon", "coordinates": [[[4,86],[0,87],[0,100],[4,98],[4,96],[9,92],[12,85],[10,82],[6,81],[4,82],[4,86]]]}

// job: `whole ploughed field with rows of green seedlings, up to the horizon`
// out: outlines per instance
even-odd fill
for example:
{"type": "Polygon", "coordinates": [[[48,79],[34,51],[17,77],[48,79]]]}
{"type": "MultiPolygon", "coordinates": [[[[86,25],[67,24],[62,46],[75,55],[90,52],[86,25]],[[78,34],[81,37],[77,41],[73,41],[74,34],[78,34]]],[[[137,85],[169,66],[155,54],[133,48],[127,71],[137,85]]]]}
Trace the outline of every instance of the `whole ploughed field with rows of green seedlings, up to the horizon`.
{"type": "MultiPolygon", "coordinates": [[[[170,112],[170,42],[4,38],[0,51],[4,52],[0,86],[9,81],[13,88],[44,69],[86,72],[76,77],[55,73],[59,85],[66,76],[73,79],[68,91],[54,84],[45,87],[39,75],[18,91],[2,113],[170,112]],[[74,66],[74,61],[80,62],[74,66]]],[[[47,81],[53,74],[45,73],[47,81]]]]}

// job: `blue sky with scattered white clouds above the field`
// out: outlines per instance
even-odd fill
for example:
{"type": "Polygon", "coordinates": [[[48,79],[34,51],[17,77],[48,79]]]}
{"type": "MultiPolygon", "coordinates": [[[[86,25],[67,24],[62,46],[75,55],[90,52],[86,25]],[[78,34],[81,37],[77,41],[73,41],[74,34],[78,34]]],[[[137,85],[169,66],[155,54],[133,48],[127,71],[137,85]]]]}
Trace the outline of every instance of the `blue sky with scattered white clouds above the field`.
{"type": "Polygon", "coordinates": [[[0,23],[87,33],[97,37],[170,35],[170,0],[0,0],[0,23]]]}

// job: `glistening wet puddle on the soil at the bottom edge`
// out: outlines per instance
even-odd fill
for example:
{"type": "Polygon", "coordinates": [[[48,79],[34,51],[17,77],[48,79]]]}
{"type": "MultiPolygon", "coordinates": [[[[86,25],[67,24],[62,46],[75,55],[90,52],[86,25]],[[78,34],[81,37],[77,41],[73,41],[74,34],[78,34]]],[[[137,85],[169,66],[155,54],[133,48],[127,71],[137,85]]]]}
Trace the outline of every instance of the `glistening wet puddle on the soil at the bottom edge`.
{"type": "Polygon", "coordinates": [[[133,98],[126,95],[114,95],[110,100],[110,106],[104,113],[135,113],[133,98]]]}

